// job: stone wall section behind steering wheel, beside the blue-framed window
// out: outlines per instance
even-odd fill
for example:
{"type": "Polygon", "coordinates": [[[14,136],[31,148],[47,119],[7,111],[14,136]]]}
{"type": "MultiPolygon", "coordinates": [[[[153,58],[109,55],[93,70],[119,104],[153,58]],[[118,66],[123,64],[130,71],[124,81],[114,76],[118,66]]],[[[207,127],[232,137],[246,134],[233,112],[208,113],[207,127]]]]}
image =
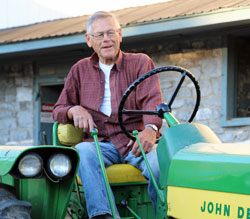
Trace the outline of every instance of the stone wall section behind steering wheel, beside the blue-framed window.
{"type": "MultiPolygon", "coordinates": [[[[172,54],[153,55],[157,67],[177,65],[190,70],[198,79],[201,88],[201,104],[194,122],[208,125],[223,142],[240,142],[250,139],[250,126],[223,128],[221,119],[222,49],[188,50],[172,54]]],[[[163,100],[171,92],[174,81],[168,73],[160,74],[163,100]]],[[[186,80],[185,80],[186,81],[186,80]]],[[[173,114],[186,121],[193,107],[195,93],[190,82],[186,82],[173,106],[173,114]],[[188,107],[187,105],[191,105],[188,107]]],[[[164,124],[166,127],[166,124],[164,124]]]]}

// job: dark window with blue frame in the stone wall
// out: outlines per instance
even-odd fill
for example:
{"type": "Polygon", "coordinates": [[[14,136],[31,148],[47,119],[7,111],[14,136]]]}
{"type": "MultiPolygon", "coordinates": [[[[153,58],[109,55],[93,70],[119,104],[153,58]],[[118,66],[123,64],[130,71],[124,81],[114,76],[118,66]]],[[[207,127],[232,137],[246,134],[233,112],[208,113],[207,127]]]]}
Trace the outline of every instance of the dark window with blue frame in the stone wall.
{"type": "Polygon", "coordinates": [[[250,37],[223,49],[222,126],[250,125],[250,37]]]}

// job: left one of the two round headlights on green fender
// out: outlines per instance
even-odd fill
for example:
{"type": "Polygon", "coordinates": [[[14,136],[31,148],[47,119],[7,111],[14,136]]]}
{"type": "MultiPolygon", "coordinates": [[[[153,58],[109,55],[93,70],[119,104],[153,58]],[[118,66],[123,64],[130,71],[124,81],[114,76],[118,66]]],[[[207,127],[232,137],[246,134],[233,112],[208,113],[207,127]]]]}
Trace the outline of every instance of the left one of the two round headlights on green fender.
{"type": "Polygon", "coordinates": [[[26,177],[33,177],[42,171],[42,159],[38,154],[25,155],[18,164],[18,170],[26,177]]]}

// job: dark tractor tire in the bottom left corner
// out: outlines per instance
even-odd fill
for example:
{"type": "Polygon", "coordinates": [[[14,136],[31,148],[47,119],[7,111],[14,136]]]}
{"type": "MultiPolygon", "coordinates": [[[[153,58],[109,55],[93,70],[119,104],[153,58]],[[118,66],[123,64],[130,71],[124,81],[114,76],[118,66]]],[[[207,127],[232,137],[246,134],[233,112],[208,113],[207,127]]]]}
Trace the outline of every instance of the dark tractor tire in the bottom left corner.
{"type": "Polygon", "coordinates": [[[0,184],[0,219],[31,219],[31,204],[16,198],[13,192],[0,184]]]}

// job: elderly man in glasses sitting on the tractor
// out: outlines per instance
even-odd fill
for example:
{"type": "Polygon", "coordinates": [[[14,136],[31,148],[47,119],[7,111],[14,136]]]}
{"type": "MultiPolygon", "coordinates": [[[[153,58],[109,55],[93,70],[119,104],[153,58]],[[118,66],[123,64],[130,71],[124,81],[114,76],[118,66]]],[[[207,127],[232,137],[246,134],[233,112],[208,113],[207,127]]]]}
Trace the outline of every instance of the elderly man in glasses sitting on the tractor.
{"type": "MultiPolygon", "coordinates": [[[[105,166],[128,163],[149,179],[149,195],[156,208],[157,195],[137,142],[130,141],[118,125],[118,105],[124,91],[139,76],[155,68],[145,54],[120,50],[122,30],[113,14],[96,12],[87,23],[87,45],[91,57],[78,61],[70,70],[64,89],[55,105],[54,120],[74,123],[84,132],[83,142],[76,145],[80,155],[78,174],[82,180],[90,218],[112,218],[97,152],[90,130],[98,129],[98,138],[105,166]]],[[[155,110],[161,103],[158,75],[145,80],[131,93],[126,107],[155,110]]],[[[138,130],[139,139],[149,159],[156,180],[159,166],[155,144],[161,119],[152,115],[126,116],[127,130],[138,130]]]]}

